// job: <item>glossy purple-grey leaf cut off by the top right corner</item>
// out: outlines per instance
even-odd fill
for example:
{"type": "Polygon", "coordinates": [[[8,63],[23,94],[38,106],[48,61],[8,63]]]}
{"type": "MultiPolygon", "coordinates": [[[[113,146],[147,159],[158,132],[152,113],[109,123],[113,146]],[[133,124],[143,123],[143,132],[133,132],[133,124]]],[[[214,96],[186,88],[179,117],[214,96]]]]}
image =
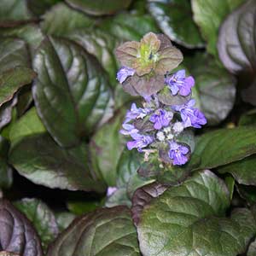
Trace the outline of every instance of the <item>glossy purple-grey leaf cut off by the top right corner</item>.
{"type": "Polygon", "coordinates": [[[249,0],[232,12],[220,27],[218,55],[232,73],[255,73],[255,14],[256,3],[249,0]]]}

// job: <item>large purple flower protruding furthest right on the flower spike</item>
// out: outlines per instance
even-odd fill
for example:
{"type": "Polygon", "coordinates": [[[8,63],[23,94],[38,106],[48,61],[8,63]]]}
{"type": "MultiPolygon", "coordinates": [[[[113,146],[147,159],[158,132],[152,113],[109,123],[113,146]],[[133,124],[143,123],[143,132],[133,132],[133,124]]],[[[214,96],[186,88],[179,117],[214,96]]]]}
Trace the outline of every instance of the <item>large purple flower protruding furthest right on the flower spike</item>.
{"type": "Polygon", "coordinates": [[[193,126],[195,128],[201,128],[201,125],[207,124],[207,119],[203,113],[197,108],[193,108],[195,100],[190,100],[183,105],[172,106],[175,111],[181,113],[184,127],[193,126]]]}

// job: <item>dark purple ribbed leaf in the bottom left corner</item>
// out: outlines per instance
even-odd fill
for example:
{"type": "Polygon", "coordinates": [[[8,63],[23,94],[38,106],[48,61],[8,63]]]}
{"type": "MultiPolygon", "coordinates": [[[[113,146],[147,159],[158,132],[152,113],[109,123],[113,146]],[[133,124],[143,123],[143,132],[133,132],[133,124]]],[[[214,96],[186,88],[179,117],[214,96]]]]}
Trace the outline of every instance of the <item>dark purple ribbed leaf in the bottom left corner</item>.
{"type": "Polygon", "coordinates": [[[0,225],[0,251],[17,253],[19,256],[43,256],[32,224],[6,200],[0,200],[0,225]]]}

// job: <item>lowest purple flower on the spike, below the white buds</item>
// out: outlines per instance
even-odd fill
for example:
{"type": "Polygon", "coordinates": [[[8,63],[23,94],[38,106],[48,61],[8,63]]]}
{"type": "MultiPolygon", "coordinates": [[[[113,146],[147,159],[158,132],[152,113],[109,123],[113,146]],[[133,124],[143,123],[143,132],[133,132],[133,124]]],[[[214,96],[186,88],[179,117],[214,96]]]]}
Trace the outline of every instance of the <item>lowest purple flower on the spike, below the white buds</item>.
{"type": "Polygon", "coordinates": [[[169,157],[173,160],[174,166],[182,166],[189,159],[186,154],[189,153],[189,148],[183,146],[182,144],[178,144],[176,142],[169,143],[170,150],[168,152],[169,157]]]}

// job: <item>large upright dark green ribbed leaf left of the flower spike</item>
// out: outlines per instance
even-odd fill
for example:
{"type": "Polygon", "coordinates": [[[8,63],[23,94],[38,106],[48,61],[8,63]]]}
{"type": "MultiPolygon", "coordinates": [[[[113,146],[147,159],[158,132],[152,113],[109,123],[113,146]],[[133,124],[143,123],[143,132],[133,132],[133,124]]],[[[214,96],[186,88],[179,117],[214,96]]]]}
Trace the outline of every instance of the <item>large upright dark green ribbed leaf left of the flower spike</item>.
{"type": "Polygon", "coordinates": [[[79,143],[108,113],[108,79],[96,59],[66,39],[46,38],[34,59],[38,114],[61,146],[79,143]]]}

